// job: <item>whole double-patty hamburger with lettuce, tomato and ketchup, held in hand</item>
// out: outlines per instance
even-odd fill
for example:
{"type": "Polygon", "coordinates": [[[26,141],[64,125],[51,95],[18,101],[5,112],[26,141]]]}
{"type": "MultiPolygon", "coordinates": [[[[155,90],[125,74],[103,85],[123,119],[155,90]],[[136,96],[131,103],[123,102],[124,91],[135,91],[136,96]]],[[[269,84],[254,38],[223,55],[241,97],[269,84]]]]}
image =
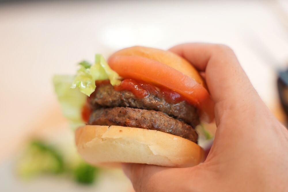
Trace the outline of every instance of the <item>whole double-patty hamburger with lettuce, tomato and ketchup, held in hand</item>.
{"type": "Polygon", "coordinates": [[[71,85],[68,76],[54,77],[54,85],[60,102],[66,102],[65,116],[78,127],[75,142],[86,161],[167,167],[201,162],[195,127],[212,121],[214,109],[205,82],[189,62],[169,51],[135,46],[115,52],[107,62],[96,55],[94,64],[80,65],[69,77],[71,85]],[[62,91],[63,82],[72,89],[62,91]]]}

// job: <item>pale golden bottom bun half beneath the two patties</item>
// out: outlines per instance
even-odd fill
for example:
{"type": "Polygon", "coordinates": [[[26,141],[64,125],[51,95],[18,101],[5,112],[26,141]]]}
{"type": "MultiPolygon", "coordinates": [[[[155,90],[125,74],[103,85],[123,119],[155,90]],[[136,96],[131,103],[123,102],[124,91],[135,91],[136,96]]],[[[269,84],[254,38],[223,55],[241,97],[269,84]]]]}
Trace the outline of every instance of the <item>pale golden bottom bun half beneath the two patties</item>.
{"type": "Polygon", "coordinates": [[[86,125],[76,130],[75,140],[80,155],[94,165],[190,167],[203,157],[202,148],[190,140],[141,128],[86,125]]]}

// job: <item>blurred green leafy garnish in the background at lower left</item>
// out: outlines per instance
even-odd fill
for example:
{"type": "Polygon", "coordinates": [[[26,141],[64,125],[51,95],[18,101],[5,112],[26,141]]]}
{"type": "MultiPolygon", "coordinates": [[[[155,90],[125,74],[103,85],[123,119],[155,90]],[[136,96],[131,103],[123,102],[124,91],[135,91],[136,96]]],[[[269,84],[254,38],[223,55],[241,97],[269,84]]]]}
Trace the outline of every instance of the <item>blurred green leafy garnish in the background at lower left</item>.
{"type": "Polygon", "coordinates": [[[100,169],[87,164],[78,155],[75,158],[64,158],[56,147],[41,140],[33,140],[17,162],[17,173],[24,179],[42,174],[66,174],[77,183],[92,184],[99,175],[100,169]],[[67,159],[64,161],[64,159],[67,159]]]}

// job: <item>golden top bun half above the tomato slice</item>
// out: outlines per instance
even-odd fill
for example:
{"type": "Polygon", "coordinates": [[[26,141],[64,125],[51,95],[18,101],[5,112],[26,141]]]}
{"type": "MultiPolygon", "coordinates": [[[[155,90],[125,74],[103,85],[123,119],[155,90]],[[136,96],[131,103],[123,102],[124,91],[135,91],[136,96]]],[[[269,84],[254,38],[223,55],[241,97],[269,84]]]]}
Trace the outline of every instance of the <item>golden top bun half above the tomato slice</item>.
{"type": "Polygon", "coordinates": [[[178,71],[189,77],[192,77],[202,86],[206,86],[198,71],[187,60],[170,51],[150,47],[134,46],[119,50],[115,52],[112,56],[114,55],[134,55],[156,60],[174,69],[177,69],[178,71]]]}

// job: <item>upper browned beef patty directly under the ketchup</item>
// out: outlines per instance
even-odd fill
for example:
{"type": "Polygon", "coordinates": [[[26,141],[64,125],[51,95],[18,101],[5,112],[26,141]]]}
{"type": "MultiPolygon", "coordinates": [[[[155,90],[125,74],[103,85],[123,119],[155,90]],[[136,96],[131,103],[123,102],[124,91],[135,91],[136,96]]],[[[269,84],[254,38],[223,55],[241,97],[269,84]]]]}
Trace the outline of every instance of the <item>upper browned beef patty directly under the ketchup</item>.
{"type": "Polygon", "coordinates": [[[177,103],[166,102],[162,95],[154,93],[144,98],[136,97],[130,91],[116,91],[111,84],[97,86],[96,91],[90,96],[91,109],[102,107],[131,107],[161,111],[195,127],[199,124],[197,109],[181,101],[177,103]]]}

